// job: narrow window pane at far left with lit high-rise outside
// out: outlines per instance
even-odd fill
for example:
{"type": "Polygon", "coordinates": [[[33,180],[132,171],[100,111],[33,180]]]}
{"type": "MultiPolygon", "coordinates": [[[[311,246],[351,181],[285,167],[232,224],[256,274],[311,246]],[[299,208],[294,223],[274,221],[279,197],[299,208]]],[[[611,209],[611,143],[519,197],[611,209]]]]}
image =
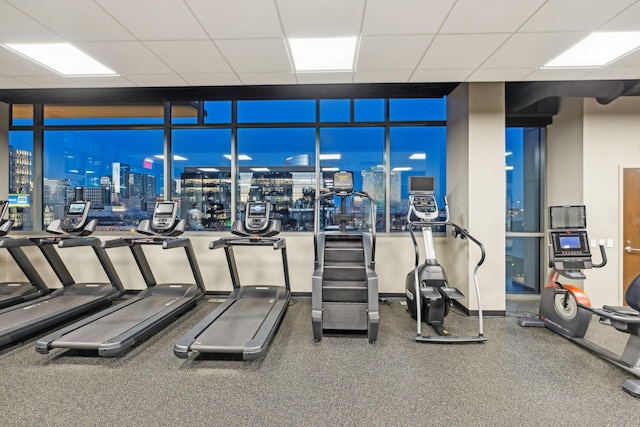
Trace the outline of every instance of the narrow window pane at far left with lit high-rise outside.
{"type": "Polygon", "coordinates": [[[14,230],[32,230],[33,132],[9,132],[9,219],[14,230]]]}

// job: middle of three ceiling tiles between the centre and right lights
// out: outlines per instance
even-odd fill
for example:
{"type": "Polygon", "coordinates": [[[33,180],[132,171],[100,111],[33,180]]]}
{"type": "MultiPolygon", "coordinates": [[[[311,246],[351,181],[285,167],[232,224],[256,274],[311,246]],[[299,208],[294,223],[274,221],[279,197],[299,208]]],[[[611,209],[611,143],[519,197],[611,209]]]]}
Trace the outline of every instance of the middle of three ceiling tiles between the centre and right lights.
{"type": "Polygon", "coordinates": [[[418,68],[477,68],[509,34],[447,34],[435,37],[418,68]]]}

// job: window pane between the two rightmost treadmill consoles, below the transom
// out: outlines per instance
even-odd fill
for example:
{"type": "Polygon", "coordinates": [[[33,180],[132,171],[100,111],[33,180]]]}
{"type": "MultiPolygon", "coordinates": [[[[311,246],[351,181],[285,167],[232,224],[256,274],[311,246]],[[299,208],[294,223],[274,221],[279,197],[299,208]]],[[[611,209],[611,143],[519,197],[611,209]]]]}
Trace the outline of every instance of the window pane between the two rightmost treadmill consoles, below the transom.
{"type": "Polygon", "coordinates": [[[172,198],[180,200],[188,230],[231,228],[231,129],[172,133],[172,198]]]}

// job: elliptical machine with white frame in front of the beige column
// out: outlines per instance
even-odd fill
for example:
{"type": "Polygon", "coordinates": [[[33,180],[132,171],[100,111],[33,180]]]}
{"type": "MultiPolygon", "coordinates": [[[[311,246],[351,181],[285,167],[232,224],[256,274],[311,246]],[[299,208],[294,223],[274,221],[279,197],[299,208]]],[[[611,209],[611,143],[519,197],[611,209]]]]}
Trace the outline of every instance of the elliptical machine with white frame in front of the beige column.
{"type": "Polygon", "coordinates": [[[484,246],[457,224],[449,222],[449,206],[444,198],[444,209],[441,211],[434,197],[435,178],[429,176],[409,177],[409,212],[407,223],[409,234],[415,249],[415,268],[407,274],[405,294],[407,310],[416,319],[417,334],[415,340],[427,343],[469,343],[484,342],[482,305],[480,287],[478,285],[478,268],[485,258],[484,246]],[[441,219],[444,214],[444,219],[441,219]],[[420,250],[414,228],[420,227],[424,241],[425,261],[420,264],[420,250]],[[444,268],[438,263],[433,243],[434,227],[451,228],[454,237],[468,239],[475,243],[481,252],[480,260],[473,269],[473,283],[478,301],[478,335],[451,335],[444,326],[444,318],[449,314],[453,300],[462,299],[464,295],[458,289],[450,287],[444,268]],[[422,334],[422,322],[426,322],[437,333],[434,336],[422,334]]]}

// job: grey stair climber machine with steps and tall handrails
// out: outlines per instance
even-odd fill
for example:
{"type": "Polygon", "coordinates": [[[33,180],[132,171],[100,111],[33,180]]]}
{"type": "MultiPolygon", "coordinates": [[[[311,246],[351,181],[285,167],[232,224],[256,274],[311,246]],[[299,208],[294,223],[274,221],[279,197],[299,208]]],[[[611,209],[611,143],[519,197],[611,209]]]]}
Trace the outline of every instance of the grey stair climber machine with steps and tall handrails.
{"type": "Polygon", "coordinates": [[[376,212],[373,199],[354,191],[353,172],[335,172],[333,191],[321,194],[315,203],[311,324],[313,338],[323,331],[366,332],[370,343],[378,338],[378,276],[375,272],[376,212]],[[319,232],[319,207],[323,199],[340,198],[340,213],[333,216],[339,228],[319,232]],[[362,197],[369,202],[371,236],[355,227],[354,215],[347,214],[347,198],[362,197]]]}

